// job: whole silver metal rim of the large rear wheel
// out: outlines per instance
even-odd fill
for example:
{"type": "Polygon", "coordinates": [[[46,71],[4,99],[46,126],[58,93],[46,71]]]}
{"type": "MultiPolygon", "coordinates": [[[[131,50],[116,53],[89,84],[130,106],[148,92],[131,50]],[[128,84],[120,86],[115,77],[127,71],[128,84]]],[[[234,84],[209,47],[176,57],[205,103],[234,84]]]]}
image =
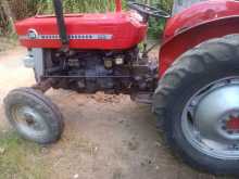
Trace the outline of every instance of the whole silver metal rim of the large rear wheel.
{"type": "Polygon", "coordinates": [[[184,108],[181,128],[198,151],[239,159],[239,77],[216,80],[196,92],[184,108]]]}

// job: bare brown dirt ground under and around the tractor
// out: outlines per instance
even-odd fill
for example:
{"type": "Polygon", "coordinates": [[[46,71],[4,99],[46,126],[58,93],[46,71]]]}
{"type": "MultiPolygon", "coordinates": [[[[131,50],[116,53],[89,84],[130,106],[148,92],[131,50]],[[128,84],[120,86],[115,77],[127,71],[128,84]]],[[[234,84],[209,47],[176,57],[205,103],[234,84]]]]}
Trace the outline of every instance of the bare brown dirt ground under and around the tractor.
{"type": "MultiPolygon", "coordinates": [[[[18,47],[0,53],[0,130],[11,131],[3,115],[5,94],[34,84],[32,71],[21,61],[25,53],[18,47]]],[[[48,179],[226,178],[200,174],[176,159],[156,131],[148,105],[125,95],[83,95],[64,90],[50,90],[47,95],[65,117],[62,139],[41,148],[36,156],[47,166],[42,172],[48,179]]]]}

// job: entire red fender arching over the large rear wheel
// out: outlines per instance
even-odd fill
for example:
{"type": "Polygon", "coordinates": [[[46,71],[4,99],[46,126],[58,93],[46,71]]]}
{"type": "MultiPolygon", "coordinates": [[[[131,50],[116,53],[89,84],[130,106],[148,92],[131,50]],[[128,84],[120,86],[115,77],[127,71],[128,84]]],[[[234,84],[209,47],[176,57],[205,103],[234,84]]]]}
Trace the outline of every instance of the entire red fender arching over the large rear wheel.
{"type": "Polygon", "coordinates": [[[183,53],[216,37],[239,33],[239,2],[211,0],[172,17],[160,51],[160,76],[183,53]]]}

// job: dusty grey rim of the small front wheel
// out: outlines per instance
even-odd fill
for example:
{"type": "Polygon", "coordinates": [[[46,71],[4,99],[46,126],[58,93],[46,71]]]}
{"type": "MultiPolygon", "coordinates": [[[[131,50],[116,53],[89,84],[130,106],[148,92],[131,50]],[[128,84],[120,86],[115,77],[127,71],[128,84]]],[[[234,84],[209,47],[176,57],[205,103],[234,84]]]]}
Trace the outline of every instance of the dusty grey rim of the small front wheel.
{"type": "Polygon", "coordinates": [[[28,105],[14,105],[11,111],[16,129],[27,138],[42,138],[48,133],[43,116],[28,105]]]}

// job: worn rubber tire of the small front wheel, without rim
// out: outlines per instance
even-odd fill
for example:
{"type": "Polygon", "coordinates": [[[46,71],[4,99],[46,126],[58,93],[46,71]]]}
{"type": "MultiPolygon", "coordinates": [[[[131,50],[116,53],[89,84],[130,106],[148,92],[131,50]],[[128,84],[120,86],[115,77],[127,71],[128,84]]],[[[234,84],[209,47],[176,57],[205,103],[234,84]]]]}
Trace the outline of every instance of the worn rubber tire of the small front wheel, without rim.
{"type": "Polygon", "coordinates": [[[4,99],[5,115],[13,128],[24,138],[39,144],[50,144],[56,142],[63,132],[63,116],[50,99],[40,91],[32,88],[20,88],[11,91],[4,99]],[[14,105],[27,105],[35,108],[43,116],[42,122],[48,127],[48,132],[43,136],[33,137],[17,130],[17,124],[12,116],[14,105]]]}

